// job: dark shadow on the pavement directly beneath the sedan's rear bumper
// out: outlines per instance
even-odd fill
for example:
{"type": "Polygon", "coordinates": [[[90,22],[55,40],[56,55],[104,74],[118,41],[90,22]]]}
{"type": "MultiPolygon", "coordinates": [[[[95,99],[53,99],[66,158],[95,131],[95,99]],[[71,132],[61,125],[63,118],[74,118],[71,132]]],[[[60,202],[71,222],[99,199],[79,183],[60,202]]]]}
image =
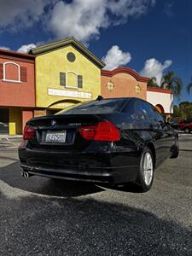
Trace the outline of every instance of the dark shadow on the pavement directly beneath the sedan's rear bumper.
{"type": "Polygon", "coordinates": [[[73,197],[103,191],[102,188],[94,183],[73,182],[38,176],[22,177],[18,160],[15,160],[13,164],[0,168],[0,179],[11,187],[41,195],[73,197]]]}

